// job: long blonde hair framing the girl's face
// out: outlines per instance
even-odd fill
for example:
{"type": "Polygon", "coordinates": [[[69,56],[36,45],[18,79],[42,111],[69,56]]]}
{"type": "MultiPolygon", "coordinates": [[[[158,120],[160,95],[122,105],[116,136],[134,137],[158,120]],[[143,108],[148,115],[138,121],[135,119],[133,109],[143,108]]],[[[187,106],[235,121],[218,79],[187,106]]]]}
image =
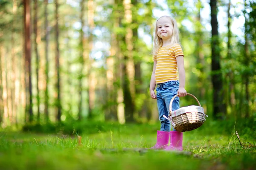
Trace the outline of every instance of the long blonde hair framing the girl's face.
{"type": "MultiPolygon", "coordinates": [[[[177,27],[177,22],[173,17],[170,16],[162,16],[162,17],[166,17],[168,18],[173,26],[173,33],[172,33],[172,37],[171,37],[171,45],[175,45],[175,44],[179,44],[180,45],[180,36],[179,36],[179,28],[177,27]]],[[[160,17],[160,18],[162,18],[160,17]]],[[[160,19],[158,18],[157,21],[160,19]]],[[[158,50],[161,48],[161,46],[163,45],[163,40],[162,38],[160,38],[157,35],[157,22],[156,22],[156,27],[155,27],[155,37],[154,37],[154,47],[153,47],[153,55],[156,56],[158,50]]]]}

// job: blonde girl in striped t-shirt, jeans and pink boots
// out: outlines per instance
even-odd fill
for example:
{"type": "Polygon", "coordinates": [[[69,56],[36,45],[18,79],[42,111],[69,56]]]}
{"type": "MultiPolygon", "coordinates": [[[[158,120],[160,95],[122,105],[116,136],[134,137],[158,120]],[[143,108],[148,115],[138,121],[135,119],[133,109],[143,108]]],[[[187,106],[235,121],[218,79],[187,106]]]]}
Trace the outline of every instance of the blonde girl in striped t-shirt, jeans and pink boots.
{"type": "MultiPolygon", "coordinates": [[[[187,94],[184,88],[184,55],[180,47],[179,29],[174,18],[163,16],[157,20],[153,54],[154,66],[149,90],[151,98],[157,99],[161,128],[157,130],[157,143],[151,149],[182,150],[182,133],[175,129],[170,131],[170,121],[163,117],[169,115],[169,104],[173,96],[179,94],[182,97],[187,94]],[[154,92],[156,85],[157,95],[154,92]]],[[[176,97],[172,102],[172,111],[180,108],[179,102],[179,97],[176,97]]]]}

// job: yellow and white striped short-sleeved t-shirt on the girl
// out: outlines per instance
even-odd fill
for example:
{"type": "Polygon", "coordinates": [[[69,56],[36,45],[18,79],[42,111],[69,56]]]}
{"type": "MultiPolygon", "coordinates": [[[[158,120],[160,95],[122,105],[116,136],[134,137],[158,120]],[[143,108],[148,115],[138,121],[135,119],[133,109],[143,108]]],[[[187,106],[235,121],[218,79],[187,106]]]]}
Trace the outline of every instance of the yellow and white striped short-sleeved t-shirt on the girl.
{"type": "Polygon", "coordinates": [[[184,56],[179,44],[167,45],[159,49],[157,56],[153,58],[157,60],[155,72],[156,84],[179,79],[176,62],[177,56],[184,56]]]}

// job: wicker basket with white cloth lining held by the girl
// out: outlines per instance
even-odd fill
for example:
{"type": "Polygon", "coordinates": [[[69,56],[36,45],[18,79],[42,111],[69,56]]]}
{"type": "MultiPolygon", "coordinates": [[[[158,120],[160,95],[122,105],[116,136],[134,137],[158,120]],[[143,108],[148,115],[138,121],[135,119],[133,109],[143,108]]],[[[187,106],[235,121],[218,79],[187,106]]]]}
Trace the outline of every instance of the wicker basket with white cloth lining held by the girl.
{"type": "Polygon", "coordinates": [[[179,132],[186,132],[197,129],[204,124],[205,116],[207,116],[206,114],[204,114],[204,108],[201,107],[198,99],[192,94],[187,94],[194,97],[195,100],[198,102],[199,106],[191,105],[179,108],[176,111],[172,111],[172,102],[175,97],[178,96],[178,94],[172,97],[169,106],[170,113],[168,118],[171,121],[172,126],[175,128],[175,130],[179,132]]]}

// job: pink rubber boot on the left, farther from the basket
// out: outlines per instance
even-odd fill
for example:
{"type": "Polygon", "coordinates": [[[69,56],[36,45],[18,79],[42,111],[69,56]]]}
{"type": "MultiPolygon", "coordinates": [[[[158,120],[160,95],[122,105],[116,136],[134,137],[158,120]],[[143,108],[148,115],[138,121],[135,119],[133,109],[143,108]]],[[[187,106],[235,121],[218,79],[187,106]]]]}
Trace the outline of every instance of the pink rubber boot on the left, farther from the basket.
{"type": "Polygon", "coordinates": [[[169,143],[169,132],[157,130],[157,143],[150,149],[165,149],[169,143]]]}

